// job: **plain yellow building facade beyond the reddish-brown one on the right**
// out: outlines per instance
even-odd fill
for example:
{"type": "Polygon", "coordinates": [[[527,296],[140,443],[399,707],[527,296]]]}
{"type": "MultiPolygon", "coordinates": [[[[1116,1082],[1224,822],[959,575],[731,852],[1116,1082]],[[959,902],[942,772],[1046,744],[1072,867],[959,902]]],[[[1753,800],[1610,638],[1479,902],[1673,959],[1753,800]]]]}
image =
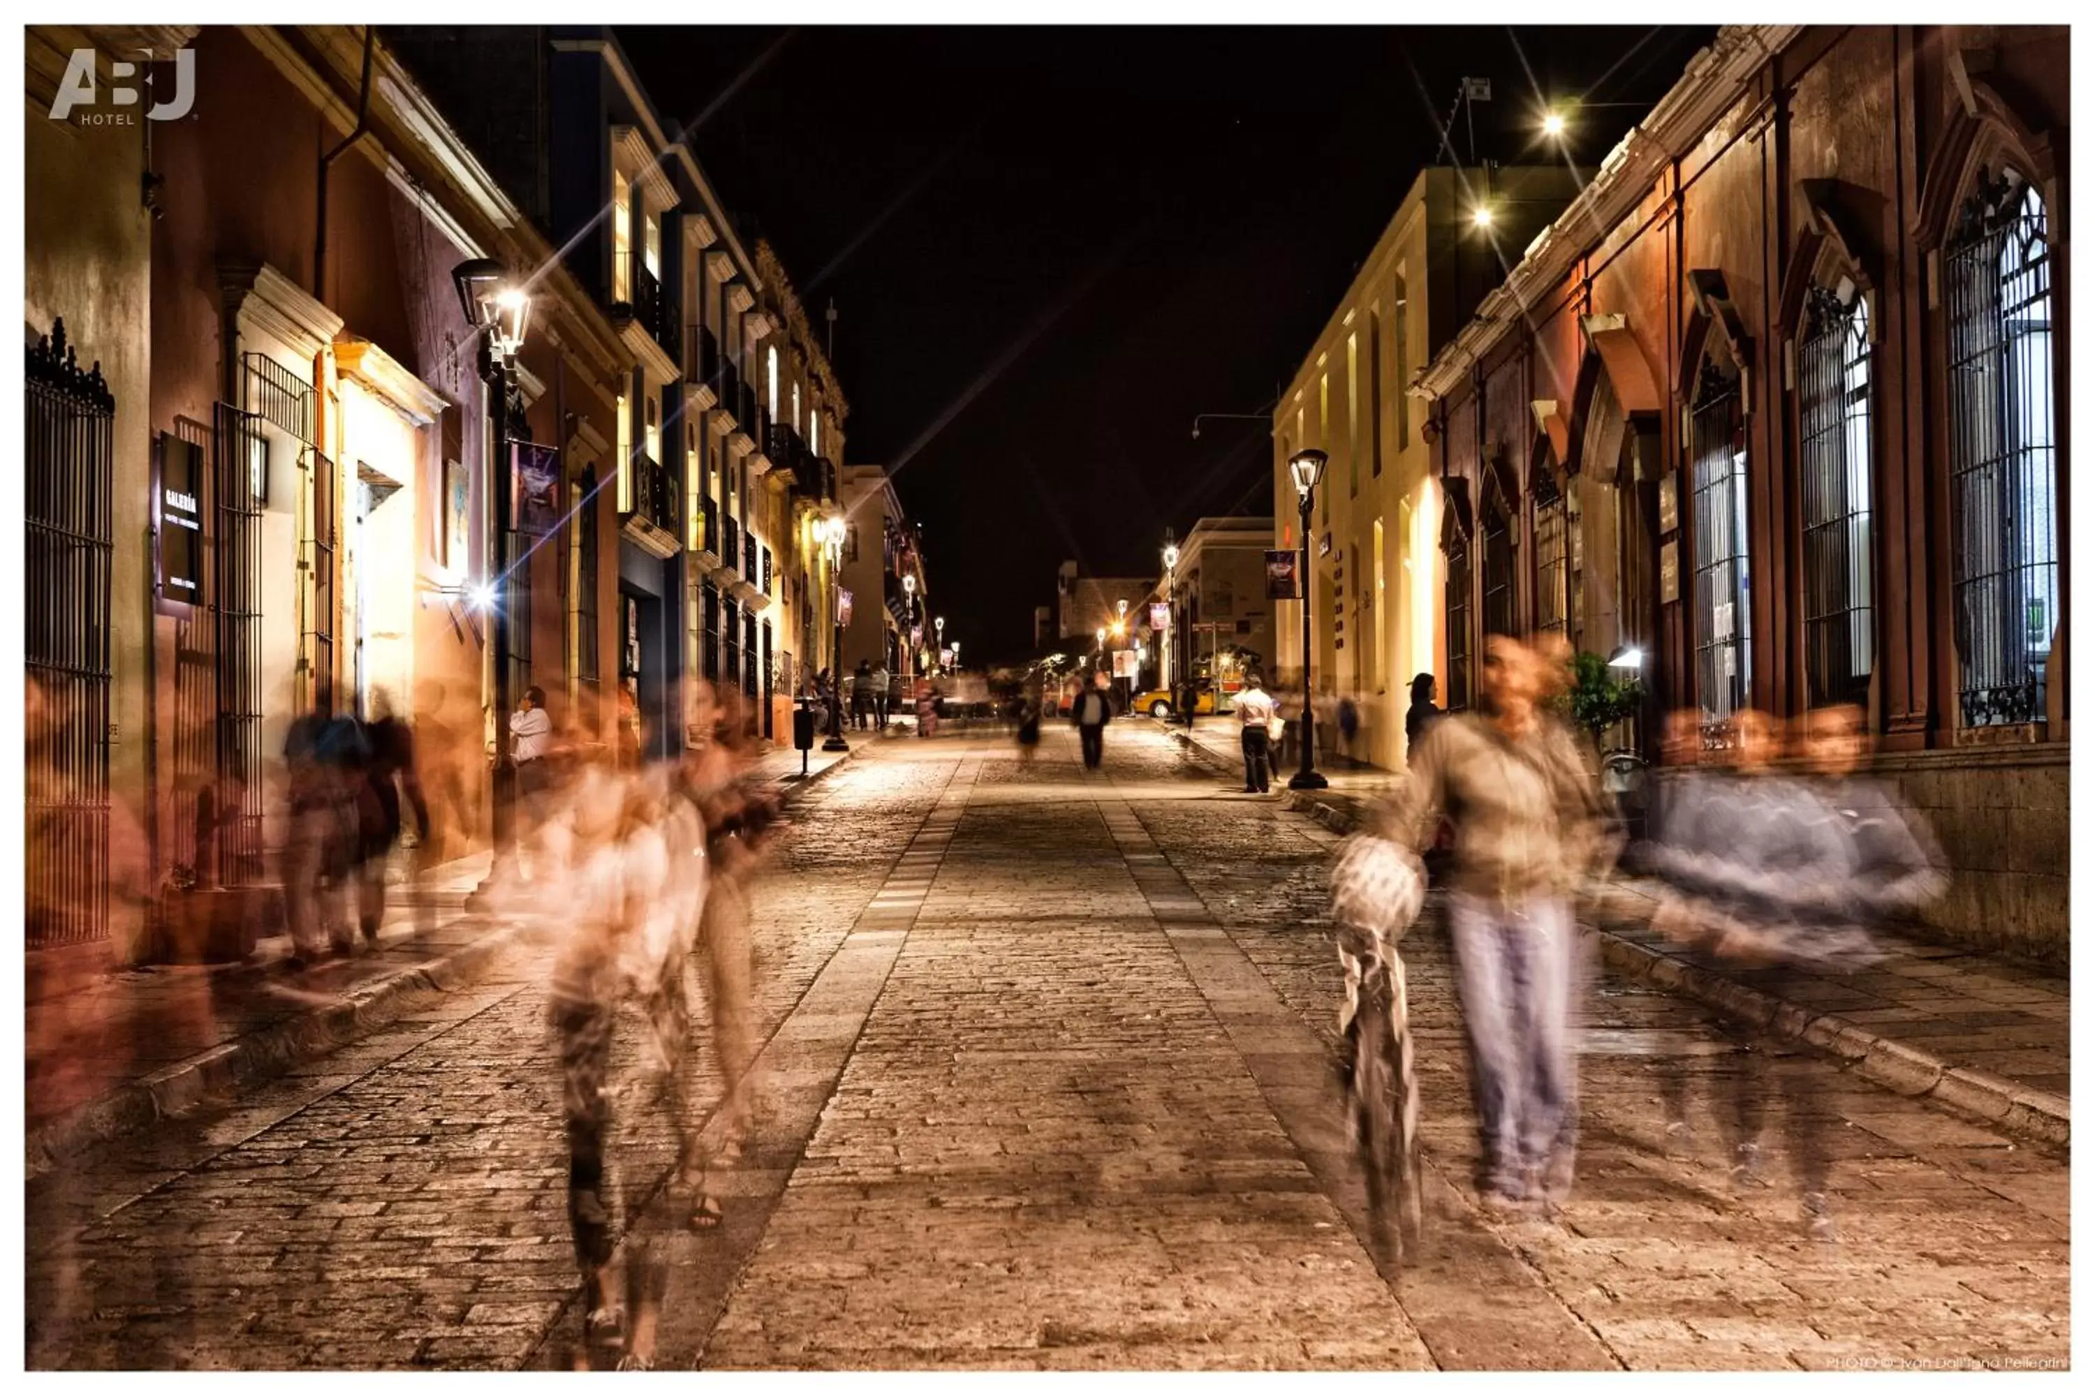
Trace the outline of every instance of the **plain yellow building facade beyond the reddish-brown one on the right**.
{"type": "MultiPolygon", "coordinates": [[[[1351,699],[1351,737],[1320,743],[1345,758],[1399,768],[1412,674],[1448,666],[1439,634],[1439,490],[1429,419],[1408,396],[1420,368],[1498,285],[1510,249],[1571,201],[1563,167],[1431,167],[1362,262],[1345,299],[1274,408],[1274,532],[1301,546],[1288,460],[1328,456],[1309,521],[1311,682],[1320,699],[1351,699]],[[1477,209],[1490,209],[1490,226],[1477,209]]],[[[1299,580],[1297,584],[1301,584],[1299,580]]],[[[1276,603],[1270,684],[1301,693],[1299,603],[1276,603]]],[[[1443,693],[1454,693],[1443,680],[1443,693]]]]}

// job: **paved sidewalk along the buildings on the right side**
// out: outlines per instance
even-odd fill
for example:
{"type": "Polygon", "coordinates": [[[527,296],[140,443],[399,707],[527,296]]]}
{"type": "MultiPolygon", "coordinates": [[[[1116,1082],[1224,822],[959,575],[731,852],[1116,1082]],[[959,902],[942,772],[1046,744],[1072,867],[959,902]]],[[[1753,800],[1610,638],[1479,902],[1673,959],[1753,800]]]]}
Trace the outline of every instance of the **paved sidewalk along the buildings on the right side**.
{"type": "MultiPolygon", "coordinates": [[[[1236,733],[1223,724],[1167,728],[1217,768],[1242,772],[1236,733]]],[[[1322,791],[1284,791],[1291,810],[1349,833],[1402,774],[1324,772],[1322,791]]],[[[1284,776],[1276,779],[1276,787],[1284,776]]],[[[2011,961],[1879,931],[1883,961],[1862,973],[1802,975],[1777,1000],[1726,965],[1651,931],[1655,885],[1611,877],[1590,887],[1594,929],[1609,967],[1686,994],[1772,1036],[1850,1061],[1858,1076],[1927,1097],[2032,1139],[2068,1145],[2072,1126],[2072,1015],[2068,980],[2011,961]]]]}

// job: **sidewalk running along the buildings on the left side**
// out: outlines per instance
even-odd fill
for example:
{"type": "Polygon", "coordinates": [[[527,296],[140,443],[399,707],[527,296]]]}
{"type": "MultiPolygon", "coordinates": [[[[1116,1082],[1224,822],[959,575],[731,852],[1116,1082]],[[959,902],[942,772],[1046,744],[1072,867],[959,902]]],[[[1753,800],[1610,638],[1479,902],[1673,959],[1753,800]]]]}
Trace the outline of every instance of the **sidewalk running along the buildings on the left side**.
{"type": "MultiPolygon", "coordinates": [[[[811,751],[802,781],[800,753],[773,751],[756,772],[792,800],[848,756],[811,751]]],[[[354,1042],[421,994],[471,986],[522,931],[513,919],[467,915],[488,864],[482,852],[436,869],[421,890],[396,887],[377,946],[352,959],[289,973],[289,940],[274,936],[237,965],[115,969],[29,1003],[29,1176],[354,1042]]]]}

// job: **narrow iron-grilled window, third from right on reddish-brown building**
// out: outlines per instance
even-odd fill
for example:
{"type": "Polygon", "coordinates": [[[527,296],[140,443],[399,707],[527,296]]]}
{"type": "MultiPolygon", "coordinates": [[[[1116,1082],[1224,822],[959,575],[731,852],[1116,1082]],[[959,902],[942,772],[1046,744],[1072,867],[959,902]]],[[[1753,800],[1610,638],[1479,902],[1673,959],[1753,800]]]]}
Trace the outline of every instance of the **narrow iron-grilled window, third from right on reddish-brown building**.
{"type": "Polygon", "coordinates": [[[1703,724],[1728,728],[1751,693],[1745,573],[1745,404],[1739,381],[1703,364],[1695,452],[1695,678],[1703,724]]]}

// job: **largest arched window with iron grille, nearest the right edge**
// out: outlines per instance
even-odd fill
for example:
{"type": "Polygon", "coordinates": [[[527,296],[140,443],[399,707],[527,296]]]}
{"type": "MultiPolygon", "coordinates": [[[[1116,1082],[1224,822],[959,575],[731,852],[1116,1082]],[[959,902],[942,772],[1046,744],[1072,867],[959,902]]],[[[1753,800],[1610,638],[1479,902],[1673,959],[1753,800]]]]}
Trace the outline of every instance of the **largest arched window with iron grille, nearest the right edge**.
{"type": "Polygon", "coordinates": [[[2061,615],[2049,253],[2043,199],[2003,170],[1982,180],[1942,257],[1965,726],[2045,716],[2061,615]]]}

